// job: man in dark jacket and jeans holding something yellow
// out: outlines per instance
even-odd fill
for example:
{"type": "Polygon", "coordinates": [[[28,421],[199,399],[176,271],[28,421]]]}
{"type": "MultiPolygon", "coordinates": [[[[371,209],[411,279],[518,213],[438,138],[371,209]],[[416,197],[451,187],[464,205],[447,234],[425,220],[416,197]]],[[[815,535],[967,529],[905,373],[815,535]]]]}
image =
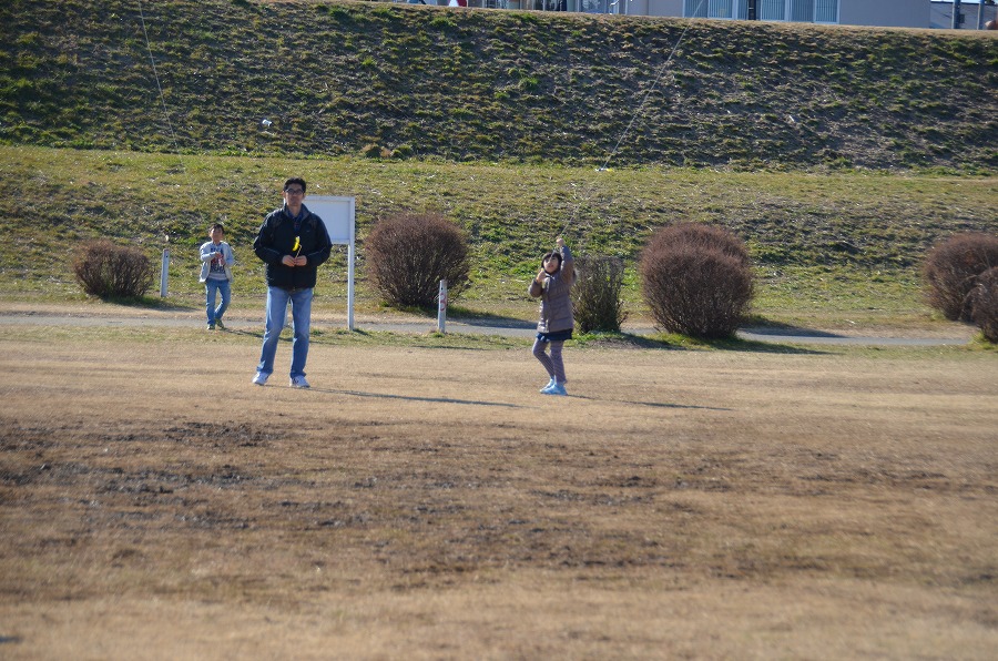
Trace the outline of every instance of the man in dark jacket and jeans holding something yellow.
{"type": "Polygon", "coordinates": [[[253,251],[267,265],[267,325],[259,365],[253,383],[263,386],[274,372],[277,339],[292,306],[295,336],[292,342],[291,386],[307,388],[305,360],[312,326],[312,292],[319,264],[329,258],[333,242],[322,218],[302,204],[305,180],[284,182],[284,206],[272,211],[259,226],[253,251]]]}

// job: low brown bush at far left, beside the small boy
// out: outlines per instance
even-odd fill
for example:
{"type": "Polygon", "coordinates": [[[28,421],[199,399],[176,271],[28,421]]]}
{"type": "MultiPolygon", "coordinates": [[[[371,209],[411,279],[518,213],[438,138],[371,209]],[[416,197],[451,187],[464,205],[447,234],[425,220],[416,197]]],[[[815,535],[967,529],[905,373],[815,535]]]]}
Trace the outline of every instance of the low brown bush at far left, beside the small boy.
{"type": "Polygon", "coordinates": [[[138,298],[152,286],[154,270],[149,256],[138,247],[98,238],[80,246],[73,273],[90,296],[138,298]]]}

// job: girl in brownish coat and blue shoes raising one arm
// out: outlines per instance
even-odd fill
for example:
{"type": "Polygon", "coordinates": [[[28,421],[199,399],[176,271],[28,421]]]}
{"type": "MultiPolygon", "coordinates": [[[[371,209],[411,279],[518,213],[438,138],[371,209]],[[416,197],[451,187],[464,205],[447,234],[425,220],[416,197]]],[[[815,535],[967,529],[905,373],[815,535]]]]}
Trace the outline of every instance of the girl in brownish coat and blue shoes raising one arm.
{"type": "Polygon", "coordinates": [[[542,260],[541,270],[530,282],[528,293],[540,298],[540,321],[537,324],[537,339],[533,343],[533,355],[548,372],[551,380],[541,388],[544,395],[568,395],[564,384],[564,362],[561,348],[564,340],[572,338],[574,319],[572,318],[572,285],[576,282],[576,267],[572,252],[559,236],[556,241],[558,251],[550,252],[542,260]],[[548,355],[548,345],[551,354],[548,355]]]}

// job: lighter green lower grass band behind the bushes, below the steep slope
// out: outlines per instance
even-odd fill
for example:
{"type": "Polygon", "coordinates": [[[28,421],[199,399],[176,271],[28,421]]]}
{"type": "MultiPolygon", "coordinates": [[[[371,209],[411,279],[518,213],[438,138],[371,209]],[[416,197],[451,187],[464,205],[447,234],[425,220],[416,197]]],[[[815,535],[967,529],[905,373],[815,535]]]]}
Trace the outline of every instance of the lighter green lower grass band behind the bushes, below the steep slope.
{"type": "MultiPolygon", "coordinates": [[[[368,311],[379,303],[365,278],[364,237],[378,217],[405,209],[442,211],[468,231],[472,284],[457,301],[461,306],[515,317],[532,315],[527,284],[539,255],[566,226],[579,254],[625,260],[624,299],[632,315],[646,312],[635,265],[649,233],[693,220],[726,226],[746,241],[758,275],[756,314],[832,326],[930,321],[920,301],[921,255],[954,232],[996,230],[995,180],[988,177],[597,172],[0,146],[0,184],[8,191],[0,200],[0,292],[80,299],[70,266],[74,246],[109,236],[143,246],[156,263],[169,247],[171,302],[197,307],[196,248],[207,226],[223,221],[238,260],[236,298],[261,298],[263,270],[251,244],[264,213],[279,203],[287,173],[312,182],[309,193],[357,197],[358,307],[368,311]]],[[[342,252],[324,268],[322,293],[329,305],[343,305],[342,252]]]]}

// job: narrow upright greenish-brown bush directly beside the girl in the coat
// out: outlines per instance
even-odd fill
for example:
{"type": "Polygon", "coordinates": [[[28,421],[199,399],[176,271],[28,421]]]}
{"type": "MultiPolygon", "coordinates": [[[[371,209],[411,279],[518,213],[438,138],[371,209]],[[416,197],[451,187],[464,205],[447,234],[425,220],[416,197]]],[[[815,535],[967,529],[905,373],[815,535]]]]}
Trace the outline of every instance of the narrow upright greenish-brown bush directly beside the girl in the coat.
{"type": "Polygon", "coordinates": [[[579,330],[620,333],[620,325],[628,316],[620,299],[623,261],[608,256],[579,257],[576,271],[572,305],[579,330]]]}

